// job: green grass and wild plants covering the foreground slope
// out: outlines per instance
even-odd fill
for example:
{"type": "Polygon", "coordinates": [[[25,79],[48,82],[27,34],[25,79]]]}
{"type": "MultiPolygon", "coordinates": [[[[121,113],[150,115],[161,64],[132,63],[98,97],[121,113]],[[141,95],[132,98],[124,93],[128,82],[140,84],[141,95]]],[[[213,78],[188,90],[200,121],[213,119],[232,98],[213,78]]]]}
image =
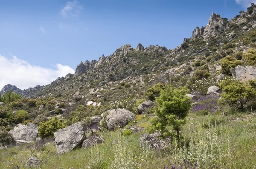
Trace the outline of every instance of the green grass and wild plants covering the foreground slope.
{"type": "MultiPolygon", "coordinates": [[[[105,138],[105,144],[87,149],[76,149],[62,155],[57,154],[53,142],[45,144],[40,149],[35,149],[35,144],[2,149],[0,150],[0,168],[15,169],[17,166],[20,169],[25,168],[31,150],[35,156],[43,160],[41,169],[84,169],[88,166],[91,169],[114,169],[120,166],[124,166],[124,169],[156,169],[164,166],[170,168],[175,163],[178,166],[178,163],[182,163],[184,158],[194,164],[198,162],[200,165],[197,168],[205,168],[206,166],[217,169],[256,167],[256,119],[253,116],[245,113],[227,116],[202,116],[190,113],[188,119],[192,120],[187,121],[181,132],[185,138],[183,140],[186,140],[185,145],[190,144],[190,149],[192,149],[192,143],[194,143],[193,145],[196,146],[196,148],[194,147],[194,150],[196,149],[194,155],[197,155],[196,157],[200,157],[200,159],[208,159],[208,161],[199,161],[195,160],[197,158],[191,157],[185,158],[184,153],[182,154],[182,151],[177,153],[175,148],[168,152],[142,151],[139,144],[141,133],[124,137],[119,135],[119,130],[116,130],[98,133],[105,138]],[[212,118],[221,121],[221,123],[202,127],[202,124],[209,123],[212,118]],[[199,130],[200,132],[198,132],[199,130]],[[195,139],[196,135],[198,135],[198,140],[195,139]],[[218,151],[214,152],[213,149],[212,152],[210,150],[203,151],[208,146],[215,147],[218,151]],[[229,154],[226,152],[229,152],[229,154]],[[207,155],[215,155],[214,158],[212,157],[214,160],[209,160],[211,158],[207,155]]],[[[137,116],[135,125],[144,125],[147,120],[148,117],[137,116]]],[[[175,147],[175,141],[173,147],[175,147]]],[[[188,146],[186,146],[186,150],[189,150],[188,146]]]]}

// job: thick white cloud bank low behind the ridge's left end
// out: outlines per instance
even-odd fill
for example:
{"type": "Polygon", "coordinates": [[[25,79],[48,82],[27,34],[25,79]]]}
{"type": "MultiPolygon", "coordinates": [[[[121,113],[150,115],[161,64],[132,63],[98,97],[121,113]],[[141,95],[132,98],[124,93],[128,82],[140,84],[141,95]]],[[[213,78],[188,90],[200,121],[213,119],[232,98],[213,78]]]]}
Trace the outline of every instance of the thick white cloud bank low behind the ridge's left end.
{"type": "Polygon", "coordinates": [[[42,68],[30,65],[29,62],[0,55],[0,90],[4,85],[16,85],[20,89],[35,87],[36,85],[48,85],[58,77],[67,73],[75,73],[69,66],[56,64],[55,69],[42,68]]]}

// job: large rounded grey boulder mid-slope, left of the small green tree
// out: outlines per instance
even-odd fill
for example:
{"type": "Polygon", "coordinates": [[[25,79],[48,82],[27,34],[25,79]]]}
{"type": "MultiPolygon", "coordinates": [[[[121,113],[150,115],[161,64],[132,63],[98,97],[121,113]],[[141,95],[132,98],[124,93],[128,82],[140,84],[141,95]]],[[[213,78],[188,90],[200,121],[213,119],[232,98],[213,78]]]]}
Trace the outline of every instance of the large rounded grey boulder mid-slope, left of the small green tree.
{"type": "Polygon", "coordinates": [[[107,127],[109,130],[113,130],[116,126],[124,127],[130,121],[134,120],[136,115],[129,110],[125,109],[113,109],[108,111],[106,117],[107,127]]]}

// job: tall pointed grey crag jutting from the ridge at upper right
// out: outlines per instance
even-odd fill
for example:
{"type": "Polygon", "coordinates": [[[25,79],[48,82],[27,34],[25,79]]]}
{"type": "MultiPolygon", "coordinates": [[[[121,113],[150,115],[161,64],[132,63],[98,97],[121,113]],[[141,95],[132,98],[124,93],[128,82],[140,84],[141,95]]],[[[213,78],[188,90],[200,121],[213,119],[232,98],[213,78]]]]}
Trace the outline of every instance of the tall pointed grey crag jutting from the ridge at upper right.
{"type": "Polygon", "coordinates": [[[221,32],[226,30],[227,19],[221,18],[220,15],[212,13],[206,27],[204,28],[204,40],[208,40],[210,37],[216,37],[221,32]]]}

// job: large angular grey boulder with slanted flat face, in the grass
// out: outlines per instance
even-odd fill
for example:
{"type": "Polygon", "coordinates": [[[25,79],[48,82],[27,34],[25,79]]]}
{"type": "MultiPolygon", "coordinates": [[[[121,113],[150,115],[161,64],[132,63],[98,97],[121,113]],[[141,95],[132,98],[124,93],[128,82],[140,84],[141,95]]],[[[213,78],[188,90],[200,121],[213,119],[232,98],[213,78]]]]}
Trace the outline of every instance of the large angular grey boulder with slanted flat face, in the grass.
{"type": "Polygon", "coordinates": [[[57,152],[62,154],[81,147],[86,139],[82,124],[76,123],[54,133],[57,152]]]}

